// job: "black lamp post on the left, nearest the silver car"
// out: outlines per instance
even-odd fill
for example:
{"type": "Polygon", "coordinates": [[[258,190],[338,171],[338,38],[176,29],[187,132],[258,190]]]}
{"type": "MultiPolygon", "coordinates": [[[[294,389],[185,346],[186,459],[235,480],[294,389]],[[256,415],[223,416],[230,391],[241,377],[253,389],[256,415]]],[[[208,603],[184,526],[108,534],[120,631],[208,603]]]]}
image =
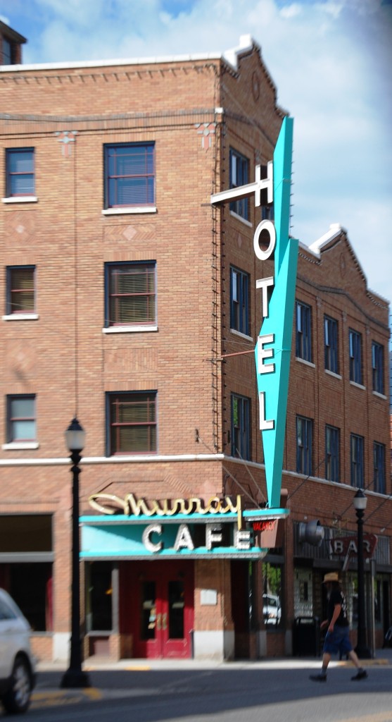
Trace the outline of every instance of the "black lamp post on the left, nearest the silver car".
{"type": "Polygon", "coordinates": [[[71,451],[72,474],[72,591],[71,591],[71,658],[61,679],[61,687],[90,687],[89,676],[81,669],[80,638],[80,569],[79,569],[79,462],[86,432],[76,417],[66,430],[66,445],[71,451]]]}

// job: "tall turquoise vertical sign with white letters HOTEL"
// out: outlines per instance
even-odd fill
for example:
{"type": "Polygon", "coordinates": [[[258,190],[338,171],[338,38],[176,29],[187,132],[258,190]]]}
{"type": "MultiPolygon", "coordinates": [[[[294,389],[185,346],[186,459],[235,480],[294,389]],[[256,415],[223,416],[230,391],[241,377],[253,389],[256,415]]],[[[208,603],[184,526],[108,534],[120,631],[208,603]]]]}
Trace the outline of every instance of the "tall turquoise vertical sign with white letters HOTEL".
{"type": "Polygon", "coordinates": [[[292,155],[293,118],[284,118],[274,160],[267,165],[267,178],[261,178],[257,165],[254,183],[211,196],[211,203],[218,204],[254,193],[255,206],[259,206],[261,192],[266,190],[268,203],[274,203],[275,221],[259,223],[253,243],[259,260],[275,259],[274,276],[256,281],[261,290],[263,321],[254,349],[269,508],[280,506],[297,276],[298,240],[289,238],[292,155]],[[269,242],[264,250],[259,240],[263,233],[264,243],[266,232],[269,242]]]}

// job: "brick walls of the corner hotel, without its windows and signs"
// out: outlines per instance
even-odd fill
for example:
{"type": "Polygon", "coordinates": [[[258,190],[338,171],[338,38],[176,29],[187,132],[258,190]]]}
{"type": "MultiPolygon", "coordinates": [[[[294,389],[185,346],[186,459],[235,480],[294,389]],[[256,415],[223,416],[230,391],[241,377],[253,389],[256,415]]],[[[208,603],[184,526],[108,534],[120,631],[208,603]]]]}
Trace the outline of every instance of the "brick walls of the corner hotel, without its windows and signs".
{"type": "MultiPolygon", "coordinates": [[[[254,355],[249,352],[262,321],[255,280],[273,275],[273,264],[258,261],[253,251],[260,217],[253,201],[244,222],[228,204],[211,206],[210,194],[229,187],[231,148],[249,159],[249,181],[255,165],[272,159],[285,111],[277,106],[258,46],[244,48],[236,61],[190,57],[0,70],[6,110],[0,116],[1,145],[4,150],[34,148],[35,178],[35,199],[10,202],[6,153],[1,153],[0,293],[5,299],[7,267],[35,266],[37,316],[15,320],[4,310],[0,388],[4,409],[9,394],[35,394],[38,442],[33,450],[7,448],[4,410],[0,514],[53,516],[53,626],[50,634],[35,636],[37,653],[46,658],[60,656],[70,628],[71,477],[63,432],[75,414],[86,430],[82,515],[92,513],[89,497],[102,490],[147,499],[242,494],[246,505],[253,500],[254,506],[265,500],[254,355]],[[102,212],[103,148],[133,142],[155,145],[156,208],[102,212]],[[156,262],[157,331],[104,333],[104,266],[134,261],[156,262]],[[249,337],[230,329],[233,266],[249,274],[249,337]],[[105,394],[126,391],[157,392],[156,455],[107,454],[105,394]],[[249,464],[231,456],[231,393],[251,399],[249,464]]],[[[296,297],[311,307],[313,361],[295,359],[294,324],[283,471],[290,516],[281,554],[266,557],[281,565],[283,615],[279,630],[264,626],[258,568],[254,633],[262,642],[257,651],[249,642],[251,654],[290,653],[296,565],[313,563],[313,612],[318,613],[317,588],[327,562],[318,566],[310,552],[303,558],[294,555],[295,523],[316,517],[331,529],[340,525],[355,531],[351,433],[365,440],[367,515],[372,515],[366,531],[380,534],[386,527],[389,554],[388,453],[385,494],[375,493],[370,482],[373,442],[386,450],[390,443],[388,303],[367,289],[347,233],[339,229],[330,236],[320,248],[300,245],[296,297]],[[339,375],[324,371],[324,314],[339,322],[339,375]],[[361,388],[348,380],[350,328],[363,339],[361,388]],[[372,391],[372,341],[385,349],[383,395],[372,391]],[[314,471],[306,483],[296,473],[297,414],[313,419],[314,471]],[[324,479],[326,424],[341,430],[339,484],[324,479]]],[[[0,583],[6,584],[17,557],[4,549],[0,583]]],[[[37,554],[33,561],[28,551],[23,549],[24,562],[37,562],[37,554]]],[[[50,554],[45,558],[50,561],[50,554]]],[[[388,584],[389,565],[388,559],[378,569],[388,584]]],[[[195,561],[195,630],[238,632],[244,646],[244,633],[233,619],[231,585],[229,560],[195,561]],[[217,605],[200,604],[203,588],[217,591],[217,605]]],[[[110,636],[110,653],[130,654],[132,644],[117,632],[110,636]]],[[[377,633],[382,635],[381,627],[377,633]]],[[[89,645],[85,649],[88,653],[89,645]]]]}

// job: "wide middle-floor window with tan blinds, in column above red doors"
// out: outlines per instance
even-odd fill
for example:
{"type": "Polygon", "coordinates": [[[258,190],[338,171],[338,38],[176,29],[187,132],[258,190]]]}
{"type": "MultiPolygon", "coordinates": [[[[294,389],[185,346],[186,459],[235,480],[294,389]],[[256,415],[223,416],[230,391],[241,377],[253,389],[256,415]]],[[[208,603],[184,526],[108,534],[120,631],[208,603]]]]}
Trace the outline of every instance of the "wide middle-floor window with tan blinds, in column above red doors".
{"type": "Polygon", "coordinates": [[[105,326],[156,325],[156,264],[107,264],[105,326]]]}

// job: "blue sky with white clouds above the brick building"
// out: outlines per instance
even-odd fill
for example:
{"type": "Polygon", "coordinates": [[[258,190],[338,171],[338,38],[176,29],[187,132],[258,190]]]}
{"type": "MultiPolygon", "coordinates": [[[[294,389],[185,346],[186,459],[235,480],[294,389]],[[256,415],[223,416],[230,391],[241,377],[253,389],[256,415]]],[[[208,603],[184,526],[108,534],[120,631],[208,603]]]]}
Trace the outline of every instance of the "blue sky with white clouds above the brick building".
{"type": "MultiPolygon", "coordinates": [[[[291,235],[347,230],[392,300],[392,0],[0,0],[24,64],[224,53],[249,34],[294,118],[291,235]]],[[[6,111],[6,108],[2,109],[6,111]]]]}

